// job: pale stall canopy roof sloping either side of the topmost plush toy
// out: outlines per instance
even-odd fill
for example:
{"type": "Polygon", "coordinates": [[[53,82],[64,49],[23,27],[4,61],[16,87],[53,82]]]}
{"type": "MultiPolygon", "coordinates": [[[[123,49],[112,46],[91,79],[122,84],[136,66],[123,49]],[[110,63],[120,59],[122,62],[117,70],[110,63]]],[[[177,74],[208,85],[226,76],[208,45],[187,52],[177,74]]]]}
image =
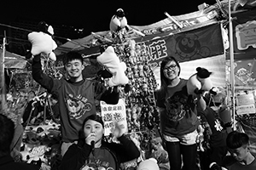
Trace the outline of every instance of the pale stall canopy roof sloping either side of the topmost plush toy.
{"type": "MultiPolygon", "coordinates": [[[[172,18],[167,17],[165,20],[160,20],[149,26],[130,26],[130,31],[125,34],[125,37],[134,39],[136,42],[146,42],[157,37],[172,36],[173,34],[195,30],[196,28],[216,23],[218,13],[219,8],[213,5],[190,14],[171,16],[172,18]],[[177,26],[177,23],[179,26],[177,26]],[[142,37],[137,32],[141,32],[145,36],[142,37]]],[[[84,56],[99,54],[100,49],[98,48],[98,43],[96,43],[98,39],[103,43],[113,42],[110,31],[92,32],[88,37],[70,40],[62,44],[55,49],[55,54],[65,54],[71,50],[83,51],[84,56]]]]}

